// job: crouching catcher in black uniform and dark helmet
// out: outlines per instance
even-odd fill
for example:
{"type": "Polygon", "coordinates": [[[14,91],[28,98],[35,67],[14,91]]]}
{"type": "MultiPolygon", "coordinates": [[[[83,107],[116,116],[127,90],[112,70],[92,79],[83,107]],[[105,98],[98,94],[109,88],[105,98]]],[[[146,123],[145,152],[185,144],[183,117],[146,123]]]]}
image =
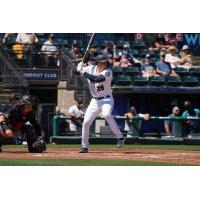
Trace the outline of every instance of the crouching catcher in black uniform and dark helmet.
{"type": "Polygon", "coordinates": [[[41,127],[35,117],[37,103],[36,97],[25,95],[19,105],[12,107],[7,114],[0,113],[0,152],[4,141],[19,132],[26,138],[30,153],[42,153],[46,150],[41,127]]]}

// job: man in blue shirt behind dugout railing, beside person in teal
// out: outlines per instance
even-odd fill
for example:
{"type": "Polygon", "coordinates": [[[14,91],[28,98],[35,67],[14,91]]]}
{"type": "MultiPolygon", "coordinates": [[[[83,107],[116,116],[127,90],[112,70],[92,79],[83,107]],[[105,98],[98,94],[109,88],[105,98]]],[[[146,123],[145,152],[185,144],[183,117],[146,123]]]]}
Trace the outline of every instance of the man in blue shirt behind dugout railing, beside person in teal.
{"type": "MultiPolygon", "coordinates": [[[[172,114],[168,115],[168,117],[173,118],[173,117],[178,117],[179,115],[180,115],[179,107],[173,106],[172,114]]],[[[180,121],[165,120],[164,126],[165,126],[166,136],[174,137],[177,127],[178,126],[181,127],[181,122],[180,121]]],[[[179,130],[181,130],[181,129],[179,129],[179,130]]]]}

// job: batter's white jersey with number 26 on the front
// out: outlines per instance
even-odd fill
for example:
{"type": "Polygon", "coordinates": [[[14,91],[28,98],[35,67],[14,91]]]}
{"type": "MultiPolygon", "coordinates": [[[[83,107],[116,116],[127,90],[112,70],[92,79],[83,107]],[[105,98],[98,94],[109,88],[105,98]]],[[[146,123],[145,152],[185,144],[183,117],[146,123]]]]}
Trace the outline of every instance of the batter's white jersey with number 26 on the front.
{"type": "Polygon", "coordinates": [[[91,65],[84,67],[83,71],[94,76],[101,75],[104,77],[104,80],[101,82],[93,82],[86,77],[89,84],[90,93],[93,97],[105,97],[107,95],[112,95],[112,70],[109,67],[98,73],[97,66],[91,65]]]}

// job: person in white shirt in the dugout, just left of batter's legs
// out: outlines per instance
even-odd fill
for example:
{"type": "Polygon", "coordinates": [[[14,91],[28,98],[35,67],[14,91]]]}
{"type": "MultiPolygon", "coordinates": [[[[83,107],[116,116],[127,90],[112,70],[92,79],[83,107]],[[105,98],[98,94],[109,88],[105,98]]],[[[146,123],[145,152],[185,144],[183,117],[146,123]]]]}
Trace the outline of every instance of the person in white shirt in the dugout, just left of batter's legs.
{"type": "Polygon", "coordinates": [[[76,105],[71,106],[68,110],[68,115],[71,116],[71,120],[68,121],[70,132],[81,132],[84,114],[83,99],[79,98],[76,100],[76,105]]]}

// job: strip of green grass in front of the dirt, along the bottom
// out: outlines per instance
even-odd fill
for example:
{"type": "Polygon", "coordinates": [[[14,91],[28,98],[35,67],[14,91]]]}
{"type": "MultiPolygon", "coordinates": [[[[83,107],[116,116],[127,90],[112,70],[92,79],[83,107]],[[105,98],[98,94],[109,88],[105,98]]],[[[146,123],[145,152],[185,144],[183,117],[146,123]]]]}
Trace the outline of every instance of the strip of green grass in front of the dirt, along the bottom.
{"type": "Polygon", "coordinates": [[[183,166],[183,164],[135,160],[0,159],[0,166],[183,166]]]}

